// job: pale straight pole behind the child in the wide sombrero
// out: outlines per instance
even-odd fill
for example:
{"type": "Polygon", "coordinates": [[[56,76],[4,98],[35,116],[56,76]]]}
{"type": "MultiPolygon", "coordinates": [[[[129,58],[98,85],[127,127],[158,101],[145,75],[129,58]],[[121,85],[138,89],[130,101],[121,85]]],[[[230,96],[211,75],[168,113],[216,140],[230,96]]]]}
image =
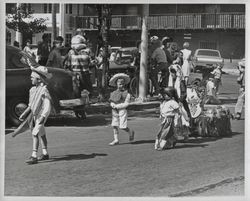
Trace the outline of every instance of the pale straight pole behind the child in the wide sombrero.
{"type": "Polygon", "coordinates": [[[139,101],[146,101],[147,96],[147,63],[148,63],[148,15],[149,4],[142,5],[141,60],[139,77],[139,101]]]}

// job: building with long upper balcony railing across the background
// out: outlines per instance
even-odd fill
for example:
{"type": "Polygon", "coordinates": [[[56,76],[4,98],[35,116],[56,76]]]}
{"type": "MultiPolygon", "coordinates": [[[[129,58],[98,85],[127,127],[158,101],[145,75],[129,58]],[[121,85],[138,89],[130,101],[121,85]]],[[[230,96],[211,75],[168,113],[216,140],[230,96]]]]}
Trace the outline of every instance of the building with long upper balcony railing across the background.
{"type": "MultiPolygon", "coordinates": [[[[46,33],[52,34],[52,4],[30,4],[34,17],[46,17],[46,33]]],[[[7,7],[15,6],[6,4],[7,7]]],[[[95,4],[56,4],[57,33],[70,43],[76,28],[84,28],[96,47],[98,17],[95,4]]],[[[112,4],[110,45],[135,46],[141,39],[140,4],[112,4]]],[[[245,55],[245,4],[150,4],[149,35],[172,37],[179,48],[185,41],[194,52],[197,48],[221,51],[224,58],[245,55]]],[[[12,43],[15,33],[7,37],[12,43]]],[[[41,40],[42,33],[31,36],[32,43],[41,40]]]]}

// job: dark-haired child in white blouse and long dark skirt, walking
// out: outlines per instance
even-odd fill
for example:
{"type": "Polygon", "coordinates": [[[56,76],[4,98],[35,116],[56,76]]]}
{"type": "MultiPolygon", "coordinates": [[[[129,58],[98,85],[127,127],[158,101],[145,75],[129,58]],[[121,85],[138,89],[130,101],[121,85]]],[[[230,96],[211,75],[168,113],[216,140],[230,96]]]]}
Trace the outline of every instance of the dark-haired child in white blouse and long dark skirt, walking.
{"type": "Polygon", "coordinates": [[[173,87],[164,88],[161,93],[164,99],[160,105],[161,127],[155,140],[155,149],[158,151],[175,146],[174,119],[180,107],[177,92],[173,87]]]}

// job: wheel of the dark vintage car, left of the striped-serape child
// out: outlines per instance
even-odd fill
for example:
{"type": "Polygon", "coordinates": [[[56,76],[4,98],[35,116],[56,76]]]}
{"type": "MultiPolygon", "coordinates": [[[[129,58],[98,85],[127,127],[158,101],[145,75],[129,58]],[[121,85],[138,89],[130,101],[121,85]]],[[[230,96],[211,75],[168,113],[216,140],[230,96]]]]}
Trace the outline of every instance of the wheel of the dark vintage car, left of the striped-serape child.
{"type": "Polygon", "coordinates": [[[28,107],[28,101],[22,97],[15,97],[7,100],[7,119],[13,126],[18,126],[21,124],[19,116],[28,107]]]}

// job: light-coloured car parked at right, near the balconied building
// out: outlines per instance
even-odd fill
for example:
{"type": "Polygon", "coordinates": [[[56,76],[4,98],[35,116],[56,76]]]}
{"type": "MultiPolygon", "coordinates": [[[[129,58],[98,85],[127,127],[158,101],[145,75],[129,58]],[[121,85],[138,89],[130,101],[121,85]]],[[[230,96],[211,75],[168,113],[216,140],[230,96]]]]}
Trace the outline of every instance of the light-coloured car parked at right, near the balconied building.
{"type": "Polygon", "coordinates": [[[192,62],[194,72],[213,68],[217,63],[224,66],[224,59],[221,57],[220,51],[214,49],[197,49],[192,62]]]}

